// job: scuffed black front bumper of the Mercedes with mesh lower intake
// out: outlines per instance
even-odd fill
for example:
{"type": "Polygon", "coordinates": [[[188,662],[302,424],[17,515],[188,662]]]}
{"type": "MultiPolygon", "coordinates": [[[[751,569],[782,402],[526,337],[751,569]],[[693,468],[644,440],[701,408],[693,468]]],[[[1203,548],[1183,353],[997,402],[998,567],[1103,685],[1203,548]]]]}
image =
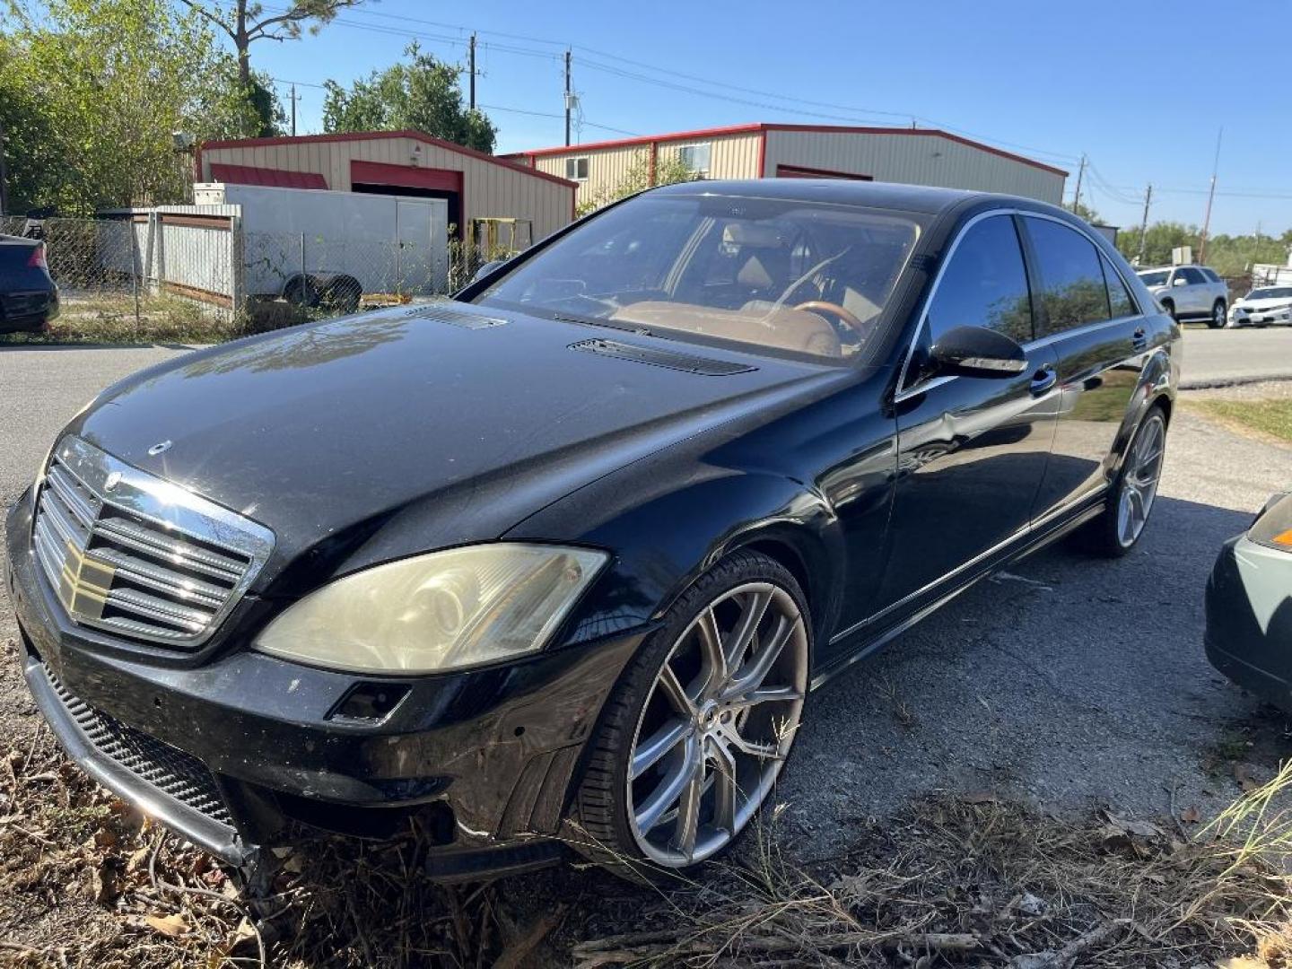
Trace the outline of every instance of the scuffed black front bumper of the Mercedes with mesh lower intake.
{"type": "Polygon", "coordinates": [[[415,815],[433,875],[547,860],[583,744],[646,632],[406,680],[313,669],[236,637],[202,665],[162,665],[70,624],[31,556],[28,508],[9,513],[5,575],[37,707],[99,783],[233,864],[298,824],[388,836],[415,815]],[[357,691],[393,708],[355,717],[357,691]]]}

